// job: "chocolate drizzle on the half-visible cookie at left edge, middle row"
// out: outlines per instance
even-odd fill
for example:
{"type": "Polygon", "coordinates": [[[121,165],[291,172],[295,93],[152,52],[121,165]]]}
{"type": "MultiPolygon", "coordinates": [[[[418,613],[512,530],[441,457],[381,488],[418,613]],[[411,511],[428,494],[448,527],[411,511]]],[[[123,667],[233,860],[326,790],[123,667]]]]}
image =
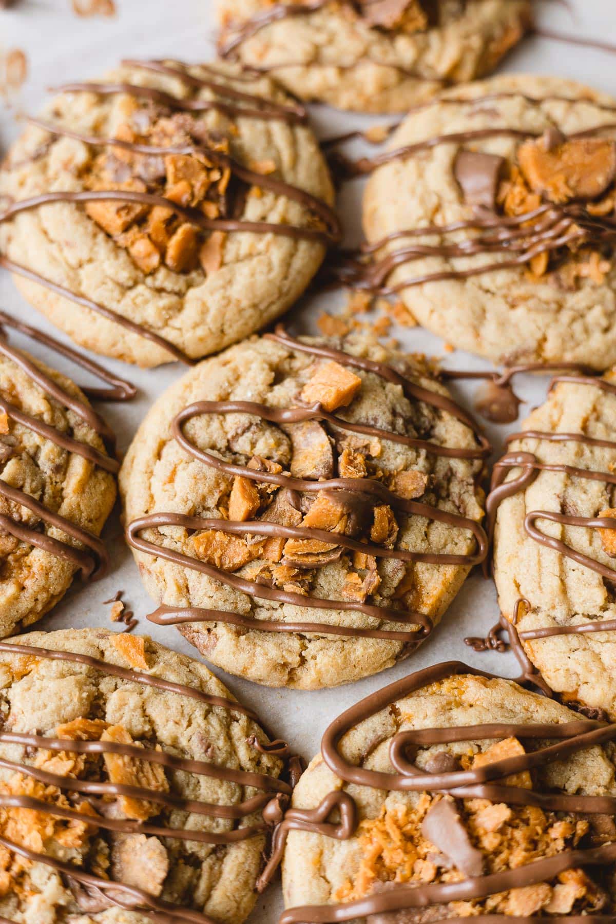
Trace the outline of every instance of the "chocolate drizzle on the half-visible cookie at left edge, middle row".
{"type": "MultiPolygon", "coordinates": [[[[111,455],[106,456],[103,452],[95,449],[94,446],[82,443],[75,437],[69,436],[56,427],[44,423],[41,419],[20,410],[8,401],[4,395],[0,395],[0,411],[4,411],[8,418],[16,420],[22,426],[38,433],[44,439],[50,440],[62,449],[66,449],[66,452],[76,453],[78,456],[87,459],[92,465],[99,466],[103,468],[104,471],[115,474],[119,470],[119,462],[115,458],[114,432],[109,429],[100,414],[90,407],[90,405],[80,400],[79,397],[70,395],[61,385],[54,382],[54,379],[47,375],[36,363],[29,359],[25,353],[11,346],[6,336],[6,327],[11,327],[21,334],[26,334],[31,340],[42,343],[44,346],[50,346],[56,352],[66,356],[67,359],[77,363],[81,368],[93,372],[101,378],[103,382],[110,384],[110,388],[91,388],[90,394],[92,397],[125,401],[137,394],[135,387],[131,383],[125,382],[123,379],[117,378],[110,372],[107,372],[98,363],[82,356],[77,350],[61,344],[59,341],[55,340],[54,337],[43,334],[42,331],[38,331],[28,324],[18,322],[11,315],[7,314],[6,311],[0,311],[0,354],[11,362],[14,362],[19,369],[29,376],[32,382],[42,388],[42,391],[46,395],[49,395],[50,398],[58,401],[61,405],[79,416],[91,430],[98,433],[111,455]]],[[[26,507],[49,526],[62,530],[62,532],[70,536],[71,539],[83,544],[88,551],[75,548],[66,541],[54,539],[53,536],[49,536],[44,532],[39,532],[37,529],[32,529],[25,523],[20,523],[18,520],[13,519],[13,517],[9,517],[5,514],[0,515],[0,527],[2,529],[5,529],[6,532],[15,536],[20,541],[27,542],[30,545],[42,549],[44,552],[54,554],[70,562],[71,565],[74,565],[75,568],[79,570],[84,579],[96,580],[99,577],[103,577],[109,566],[109,555],[104,547],[103,541],[101,541],[98,536],[87,529],[80,528],[75,523],[66,519],[66,517],[54,513],[54,511],[49,510],[46,506],[35,500],[35,498],[31,497],[30,494],[18,488],[11,487],[6,481],[1,479],[0,494],[6,497],[12,504],[26,507]]]]}

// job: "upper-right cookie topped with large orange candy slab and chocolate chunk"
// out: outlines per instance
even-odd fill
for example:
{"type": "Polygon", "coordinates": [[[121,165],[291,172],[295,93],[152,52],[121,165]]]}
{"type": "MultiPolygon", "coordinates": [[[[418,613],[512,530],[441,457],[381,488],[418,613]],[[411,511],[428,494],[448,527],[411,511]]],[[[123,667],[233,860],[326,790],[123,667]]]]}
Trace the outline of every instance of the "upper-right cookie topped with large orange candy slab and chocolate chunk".
{"type": "Polygon", "coordinates": [[[504,76],[408,116],[364,200],[372,259],[354,285],[497,362],[616,362],[616,101],[504,76]],[[601,128],[607,126],[607,128],[601,128]]]}

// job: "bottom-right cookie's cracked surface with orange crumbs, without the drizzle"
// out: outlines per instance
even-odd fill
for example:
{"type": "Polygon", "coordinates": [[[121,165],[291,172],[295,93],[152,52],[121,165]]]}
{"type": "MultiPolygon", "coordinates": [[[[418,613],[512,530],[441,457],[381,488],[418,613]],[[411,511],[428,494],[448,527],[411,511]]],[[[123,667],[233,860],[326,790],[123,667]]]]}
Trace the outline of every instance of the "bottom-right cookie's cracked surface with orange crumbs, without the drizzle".
{"type": "MultiPolygon", "coordinates": [[[[465,667],[452,665],[460,671],[465,667]]],[[[438,671],[439,665],[429,670],[438,671]]],[[[401,683],[404,681],[396,686],[401,683]]],[[[527,864],[549,863],[550,858],[575,848],[609,843],[613,837],[609,815],[539,808],[532,805],[532,799],[540,799],[542,793],[614,796],[611,746],[578,749],[561,760],[543,760],[505,779],[494,774],[493,782],[501,788],[503,801],[492,801],[480,793],[463,797],[459,789],[455,798],[438,789],[417,787],[409,791],[417,772],[428,777],[435,774],[433,778],[464,772],[468,778],[469,772],[481,771],[497,761],[524,761],[525,755],[530,757],[549,743],[531,738],[530,730],[525,736],[525,726],[571,723],[579,716],[513,682],[464,673],[393,699],[380,711],[370,709],[368,718],[363,718],[362,706],[355,707],[361,711],[360,721],[344,731],[335,745],[344,768],[353,769],[355,781],[344,782],[318,755],[296,785],[296,818],[308,817],[309,810],[319,807],[329,794],[336,794],[339,800],[345,795],[356,804],[356,829],[342,839],[320,832],[289,831],[283,863],[284,904],[295,910],[287,912],[288,920],[333,921],[346,916],[361,924],[429,924],[449,918],[502,915],[512,920],[537,916],[549,921],[552,915],[566,918],[593,914],[598,909],[605,914],[613,911],[613,862],[593,871],[564,863],[565,869],[546,881],[532,873],[525,877],[524,870],[527,864]],[[494,723],[503,723],[504,728],[497,732],[494,723]],[[468,740],[463,736],[456,740],[453,733],[465,726],[476,727],[469,731],[468,740]],[[484,735],[489,729],[494,731],[486,737],[477,726],[484,735]],[[399,764],[394,769],[391,748],[396,736],[404,738],[416,730],[425,738],[403,753],[398,751],[400,760],[414,765],[413,772],[405,774],[399,764]],[[443,740],[435,743],[439,736],[443,740]],[[370,784],[371,773],[387,776],[370,784]],[[406,791],[404,784],[389,788],[388,781],[399,781],[401,775],[406,791]],[[513,804],[506,801],[510,794],[513,804]],[[523,804],[514,804],[516,795],[522,796],[523,804]],[[525,805],[526,795],[529,804],[525,805]],[[599,833],[601,824],[607,825],[604,834],[599,833]],[[484,884],[481,880],[494,873],[516,884],[512,887],[505,881],[498,889],[489,888],[488,881],[484,884]],[[471,897],[475,882],[479,895],[471,897]],[[455,889],[457,884],[461,890],[468,887],[466,894],[443,901],[441,888],[455,889]],[[423,893],[422,900],[411,900],[405,906],[403,896],[412,896],[415,889],[423,893]],[[374,913],[366,917],[367,906],[389,894],[401,896],[393,899],[392,909],[374,906],[374,913]],[[357,903],[355,915],[344,907],[352,902],[357,903]]],[[[348,724],[340,721],[345,730],[348,724]]],[[[323,754],[331,759],[334,751],[328,736],[329,732],[323,738],[323,754]]],[[[472,788],[480,790],[481,786],[472,788]]],[[[334,816],[334,825],[336,819],[334,816]]]]}

